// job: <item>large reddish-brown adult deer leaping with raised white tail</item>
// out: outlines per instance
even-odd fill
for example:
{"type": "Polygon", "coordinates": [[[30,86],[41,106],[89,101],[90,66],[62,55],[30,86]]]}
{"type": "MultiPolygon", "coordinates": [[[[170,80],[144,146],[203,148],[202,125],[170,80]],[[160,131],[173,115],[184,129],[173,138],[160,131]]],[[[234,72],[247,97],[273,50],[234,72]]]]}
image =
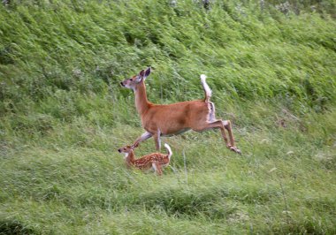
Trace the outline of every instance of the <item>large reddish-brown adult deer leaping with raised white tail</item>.
{"type": "Polygon", "coordinates": [[[120,82],[122,87],[132,89],[135,94],[135,107],[141,117],[141,125],[146,130],[134,142],[137,147],[141,141],[153,137],[156,148],[161,148],[161,136],[172,136],[194,130],[202,132],[208,129],[220,129],[226,147],[241,154],[234,145],[233,131],[230,120],[220,120],[215,117],[215,105],[210,102],[211,90],[206,83],[206,76],[201,75],[205,97],[203,100],[176,102],[172,104],[154,104],[148,101],[145,80],[150,74],[150,67],[141,70],[139,74],[120,82]],[[226,133],[229,134],[229,140],[226,133]]]}

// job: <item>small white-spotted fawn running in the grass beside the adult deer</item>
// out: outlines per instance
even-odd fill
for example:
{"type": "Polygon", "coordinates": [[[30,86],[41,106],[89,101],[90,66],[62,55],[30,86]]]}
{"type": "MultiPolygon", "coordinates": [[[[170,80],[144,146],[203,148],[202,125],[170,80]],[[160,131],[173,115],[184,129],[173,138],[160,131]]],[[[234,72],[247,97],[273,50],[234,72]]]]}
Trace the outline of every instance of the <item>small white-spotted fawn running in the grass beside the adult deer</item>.
{"type": "Polygon", "coordinates": [[[157,175],[162,175],[162,168],[169,165],[172,156],[172,149],[168,144],[164,144],[167,149],[167,154],[153,153],[150,155],[144,155],[139,159],[135,159],[134,146],[126,146],[119,148],[118,152],[125,154],[125,160],[127,167],[134,166],[140,170],[149,170],[153,168],[157,175]]]}

